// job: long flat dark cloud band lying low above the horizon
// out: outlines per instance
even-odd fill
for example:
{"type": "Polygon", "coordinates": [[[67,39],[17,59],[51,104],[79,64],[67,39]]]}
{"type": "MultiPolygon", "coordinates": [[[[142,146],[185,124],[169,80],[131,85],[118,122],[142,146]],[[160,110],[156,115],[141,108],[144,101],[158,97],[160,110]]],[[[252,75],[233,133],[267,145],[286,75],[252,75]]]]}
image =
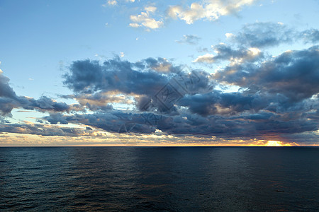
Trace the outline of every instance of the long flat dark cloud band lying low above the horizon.
{"type": "MultiPolygon", "coordinates": [[[[232,95],[236,96],[235,93],[232,95]]],[[[213,102],[211,98],[207,98],[208,96],[202,97],[204,103],[197,102],[199,104],[197,105],[198,109],[203,109],[203,106],[206,105],[205,102],[213,102]]],[[[249,105],[253,98],[240,97],[233,100],[233,96],[223,96],[218,101],[221,104],[229,104],[237,108],[242,107],[242,109],[237,109],[238,111],[245,111],[247,110],[245,107],[250,107],[249,105]]],[[[218,96],[216,97],[218,99],[218,96]]],[[[196,102],[191,102],[191,104],[196,104],[196,102]]],[[[194,106],[196,107],[196,105],[194,106]]],[[[213,108],[212,110],[206,110],[208,112],[206,116],[198,114],[196,111],[195,113],[193,113],[194,111],[184,111],[179,115],[159,115],[154,112],[138,113],[113,110],[107,113],[65,115],[62,118],[60,117],[60,119],[65,119],[67,122],[73,124],[91,126],[92,129],[120,134],[127,133],[128,131],[125,131],[125,129],[129,129],[130,133],[135,135],[154,134],[156,130],[160,130],[163,134],[193,135],[199,137],[218,136],[218,138],[223,139],[264,139],[269,137],[280,139],[281,135],[287,136],[288,134],[298,134],[318,129],[318,121],[309,119],[309,117],[305,117],[304,115],[287,118],[284,114],[262,110],[259,112],[236,114],[232,114],[231,112],[220,114],[218,112],[219,109],[216,112],[211,112],[213,110],[213,108]]],[[[11,128],[7,126],[6,129],[2,130],[18,132],[17,129],[15,131],[8,129],[11,128]]]]}

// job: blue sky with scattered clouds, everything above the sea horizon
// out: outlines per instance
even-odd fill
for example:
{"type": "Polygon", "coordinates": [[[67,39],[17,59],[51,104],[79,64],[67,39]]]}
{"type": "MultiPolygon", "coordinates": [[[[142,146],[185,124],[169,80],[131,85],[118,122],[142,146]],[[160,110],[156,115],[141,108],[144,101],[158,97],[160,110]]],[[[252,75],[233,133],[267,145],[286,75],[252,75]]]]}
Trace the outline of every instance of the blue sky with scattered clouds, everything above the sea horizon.
{"type": "Polygon", "coordinates": [[[318,0],[0,0],[0,146],[319,146],[318,20],[318,0]]]}

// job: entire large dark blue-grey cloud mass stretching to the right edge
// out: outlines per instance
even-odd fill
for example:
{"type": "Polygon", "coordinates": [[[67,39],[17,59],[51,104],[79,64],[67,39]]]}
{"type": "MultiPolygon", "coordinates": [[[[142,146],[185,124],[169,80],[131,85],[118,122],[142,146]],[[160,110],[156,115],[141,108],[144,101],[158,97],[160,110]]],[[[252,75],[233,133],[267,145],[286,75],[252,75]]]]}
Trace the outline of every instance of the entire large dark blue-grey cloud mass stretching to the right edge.
{"type": "Polygon", "coordinates": [[[281,139],[318,130],[317,47],[276,58],[264,57],[256,47],[234,49],[220,44],[213,49],[216,61],[241,61],[230,62],[213,75],[200,70],[187,73],[162,58],[135,63],[119,58],[103,64],[75,61],[65,75],[65,84],[77,95],[88,95],[101,105],[109,104],[103,102],[106,93],[134,95],[135,108],[125,112],[92,107],[93,114],[60,119],[110,132],[130,129],[133,134],[153,134],[159,130],[169,135],[223,139],[281,139]],[[256,59],[259,62],[255,63],[256,59]],[[165,71],[163,67],[167,67],[165,71]],[[113,83],[119,76],[123,78],[113,83]],[[241,89],[223,93],[213,89],[216,83],[241,89]]]}

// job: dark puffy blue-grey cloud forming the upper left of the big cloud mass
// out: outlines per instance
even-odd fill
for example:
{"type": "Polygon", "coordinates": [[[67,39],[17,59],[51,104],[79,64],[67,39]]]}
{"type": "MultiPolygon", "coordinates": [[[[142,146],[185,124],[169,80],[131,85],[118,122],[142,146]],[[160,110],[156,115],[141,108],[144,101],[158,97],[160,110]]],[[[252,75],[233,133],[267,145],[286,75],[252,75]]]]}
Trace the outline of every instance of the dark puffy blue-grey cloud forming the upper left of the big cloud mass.
{"type": "Polygon", "coordinates": [[[79,102],[82,104],[85,102],[84,95],[86,102],[91,105],[93,100],[106,102],[107,93],[117,92],[135,96],[140,110],[146,110],[145,100],[148,99],[157,110],[172,112],[174,102],[186,93],[211,90],[213,83],[209,77],[205,71],[193,70],[187,73],[161,58],[148,58],[138,63],[115,58],[103,64],[89,60],[75,61],[69,73],[65,74],[65,84],[74,90],[76,98],[80,97],[79,102]],[[161,69],[169,66],[169,71],[158,71],[159,66],[161,69]]]}

